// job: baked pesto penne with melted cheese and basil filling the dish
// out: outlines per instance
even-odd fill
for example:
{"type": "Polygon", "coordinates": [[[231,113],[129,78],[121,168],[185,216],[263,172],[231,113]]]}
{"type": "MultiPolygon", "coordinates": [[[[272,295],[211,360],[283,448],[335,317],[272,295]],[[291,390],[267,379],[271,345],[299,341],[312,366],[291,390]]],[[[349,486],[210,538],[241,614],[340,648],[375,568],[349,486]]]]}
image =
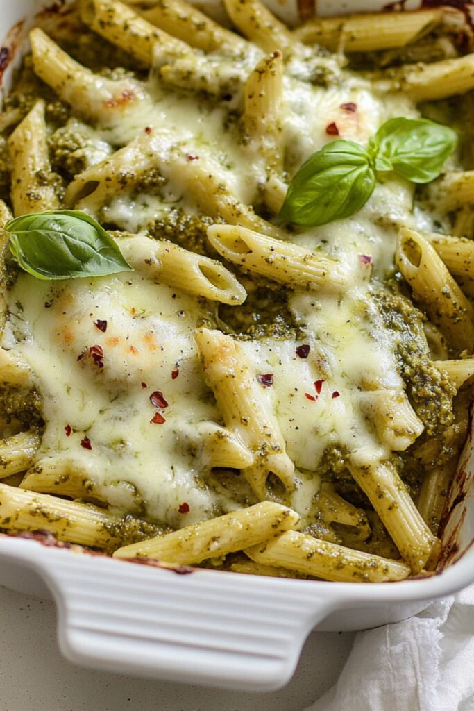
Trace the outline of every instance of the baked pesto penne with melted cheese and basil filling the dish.
{"type": "Polygon", "coordinates": [[[431,574],[474,374],[470,25],[224,6],[83,0],[30,33],[0,115],[0,528],[431,574]]]}

